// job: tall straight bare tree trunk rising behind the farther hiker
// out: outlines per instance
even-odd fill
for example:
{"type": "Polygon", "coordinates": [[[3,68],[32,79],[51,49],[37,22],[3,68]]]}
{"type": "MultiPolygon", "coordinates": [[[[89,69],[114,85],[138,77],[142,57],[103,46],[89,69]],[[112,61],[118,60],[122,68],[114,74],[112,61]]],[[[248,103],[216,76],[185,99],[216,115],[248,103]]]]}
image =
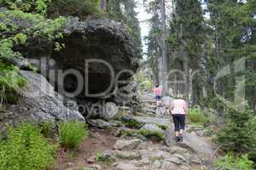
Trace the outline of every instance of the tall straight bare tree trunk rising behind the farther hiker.
{"type": "Polygon", "coordinates": [[[163,86],[163,95],[165,96],[169,92],[168,88],[168,59],[167,59],[167,52],[166,52],[166,36],[167,36],[167,29],[166,29],[166,0],[161,0],[161,27],[162,27],[162,38],[161,38],[161,48],[162,48],[162,86],[163,86]]]}

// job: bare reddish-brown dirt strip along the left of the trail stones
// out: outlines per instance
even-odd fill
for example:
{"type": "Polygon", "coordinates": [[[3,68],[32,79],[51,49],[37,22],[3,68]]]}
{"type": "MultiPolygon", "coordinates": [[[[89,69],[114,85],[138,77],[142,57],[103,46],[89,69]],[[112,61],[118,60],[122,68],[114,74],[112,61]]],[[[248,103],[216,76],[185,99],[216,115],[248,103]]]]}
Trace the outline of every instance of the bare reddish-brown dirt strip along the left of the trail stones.
{"type": "MultiPolygon", "coordinates": [[[[90,136],[84,139],[79,147],[79,150],[68,151],[61,148],[58,150],[56,170],[82,170],[85,167],[91,167],[87,159],[90,156],[95,156],[96,153],[102,153],[105,150],[112,150],[116,138],[111,135],[107,130],[97,128],[90,129],[90,136]]],[[[102,165],[103,169],[104,165],[102,165]]]]}

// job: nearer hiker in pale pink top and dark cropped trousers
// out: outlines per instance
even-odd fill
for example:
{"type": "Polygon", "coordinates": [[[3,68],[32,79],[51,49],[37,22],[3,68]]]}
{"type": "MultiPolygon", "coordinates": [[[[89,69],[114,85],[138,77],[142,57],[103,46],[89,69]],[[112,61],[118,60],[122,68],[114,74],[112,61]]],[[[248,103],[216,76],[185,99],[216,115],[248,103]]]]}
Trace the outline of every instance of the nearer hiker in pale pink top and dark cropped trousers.
{"type": "Polygon", "coordinates": [[[182,142],[188,105],[186,101],[183,99],[174,99],[172,101],[170,111],[172,113],[172,118],[175,127],[175,140],[177,142],[182,142]]]}

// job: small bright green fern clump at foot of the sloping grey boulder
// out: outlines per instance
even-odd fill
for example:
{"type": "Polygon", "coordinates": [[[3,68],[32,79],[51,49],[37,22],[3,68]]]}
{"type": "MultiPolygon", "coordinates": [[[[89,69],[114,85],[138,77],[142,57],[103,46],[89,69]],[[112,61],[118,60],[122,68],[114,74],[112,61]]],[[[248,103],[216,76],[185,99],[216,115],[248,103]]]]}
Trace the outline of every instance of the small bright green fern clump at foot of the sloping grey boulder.
{"type": "Polygon", "coordinates": [[[77,148],[84,137],[88,136],[87,125],[84,122],[60,122],[59,138],[65,148],[77,148]]]}

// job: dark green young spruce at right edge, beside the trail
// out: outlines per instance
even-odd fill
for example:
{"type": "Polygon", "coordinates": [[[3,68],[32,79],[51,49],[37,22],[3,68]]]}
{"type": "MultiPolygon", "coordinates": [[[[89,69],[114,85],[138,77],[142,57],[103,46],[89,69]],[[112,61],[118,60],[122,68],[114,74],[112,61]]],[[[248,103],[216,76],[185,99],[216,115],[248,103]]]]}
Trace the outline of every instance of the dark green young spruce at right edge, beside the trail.
{"type": "MultiPolygon", "coordinates": [[[[256,118],[253,111],[228,110],[229,122],[218,133],[218,143],[223,150],[239,153],[252,152],[256,148],[256,118]]],[[[253,154],[253,153],[252,153],[253,154]]]]}

